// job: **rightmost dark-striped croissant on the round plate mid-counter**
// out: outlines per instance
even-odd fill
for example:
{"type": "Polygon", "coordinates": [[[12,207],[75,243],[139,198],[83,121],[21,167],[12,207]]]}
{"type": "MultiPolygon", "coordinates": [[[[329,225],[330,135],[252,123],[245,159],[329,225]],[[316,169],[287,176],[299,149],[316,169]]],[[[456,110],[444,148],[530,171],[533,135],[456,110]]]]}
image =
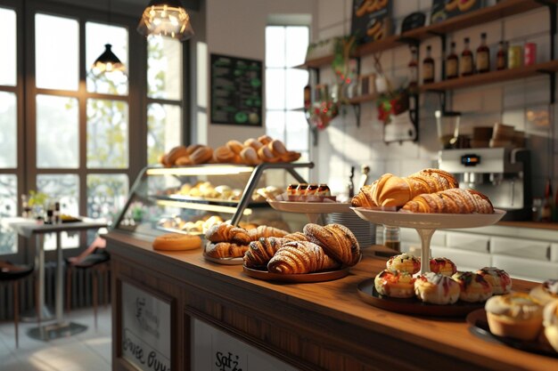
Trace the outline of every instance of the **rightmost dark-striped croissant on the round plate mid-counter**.
{"type": "Polygon", "coordinates": [[[353,232],[341,224],[324,227],[308,223],[304,226],[308,240],[324,248],[325,254],[349,267],[360,260],[360,246],[353,232]]]}

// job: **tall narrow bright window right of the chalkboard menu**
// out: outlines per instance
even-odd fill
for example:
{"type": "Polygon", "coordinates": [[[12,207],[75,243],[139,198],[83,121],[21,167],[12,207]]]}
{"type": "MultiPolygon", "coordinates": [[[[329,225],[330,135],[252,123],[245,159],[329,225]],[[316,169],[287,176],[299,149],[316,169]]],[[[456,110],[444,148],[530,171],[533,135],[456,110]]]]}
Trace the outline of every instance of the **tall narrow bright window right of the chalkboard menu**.
{"type": "MultiPolygon", "coordinates": [[[[308,71],[294,69],[304,62],[309,28],[267,26],[266,28],[266,132],[284,141],[291,150],[308,160],[308,123],[304,107],[304,86],[308,71]]],[[[301,174],[308,179],[307,173],[301,174]]]]}

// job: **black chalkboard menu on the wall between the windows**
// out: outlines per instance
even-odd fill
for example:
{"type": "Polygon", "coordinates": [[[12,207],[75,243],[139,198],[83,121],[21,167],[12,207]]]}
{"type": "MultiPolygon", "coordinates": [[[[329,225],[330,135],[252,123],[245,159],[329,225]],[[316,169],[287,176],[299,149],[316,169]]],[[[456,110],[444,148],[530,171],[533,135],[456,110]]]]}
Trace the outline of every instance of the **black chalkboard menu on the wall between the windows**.
{"type": "Polygon", "coordinates": [[[262,125],[262,62],[211,54],[211,123],[262,125]]]}

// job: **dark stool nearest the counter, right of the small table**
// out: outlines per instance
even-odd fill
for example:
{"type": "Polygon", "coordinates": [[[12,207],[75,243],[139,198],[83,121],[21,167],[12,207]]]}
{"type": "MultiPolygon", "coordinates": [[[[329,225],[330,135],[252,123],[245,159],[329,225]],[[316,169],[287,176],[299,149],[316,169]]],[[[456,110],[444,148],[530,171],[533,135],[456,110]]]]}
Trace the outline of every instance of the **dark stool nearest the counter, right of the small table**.
{"type": "MultiPolygon", "coordinates": [[[[92,270],[93,281],[93,311],[94,326],[97,328],[97,298],[99,296],[99,278],[100,274],[110,270],[111,254],[107,253],[104,248],[97,248],[92,254],[88,254],[85,258],[78,262],[70,262],[66,260],[66,311],[70,313],[71,303],[71,272],[73,269],[92,270]]],[[[105,303],[108,302],[108,279],[104,280],[105,303]]]]}

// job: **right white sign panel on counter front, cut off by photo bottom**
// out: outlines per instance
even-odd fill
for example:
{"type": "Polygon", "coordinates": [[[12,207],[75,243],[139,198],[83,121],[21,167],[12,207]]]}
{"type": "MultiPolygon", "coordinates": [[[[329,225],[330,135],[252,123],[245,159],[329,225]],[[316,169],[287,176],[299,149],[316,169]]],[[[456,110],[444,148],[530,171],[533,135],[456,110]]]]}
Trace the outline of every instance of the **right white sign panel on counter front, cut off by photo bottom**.
{"type": "Polygon", "coordinates": [[[195,371],[297,371],[231,335],[192,319],[192,369],[195,371]]]}

